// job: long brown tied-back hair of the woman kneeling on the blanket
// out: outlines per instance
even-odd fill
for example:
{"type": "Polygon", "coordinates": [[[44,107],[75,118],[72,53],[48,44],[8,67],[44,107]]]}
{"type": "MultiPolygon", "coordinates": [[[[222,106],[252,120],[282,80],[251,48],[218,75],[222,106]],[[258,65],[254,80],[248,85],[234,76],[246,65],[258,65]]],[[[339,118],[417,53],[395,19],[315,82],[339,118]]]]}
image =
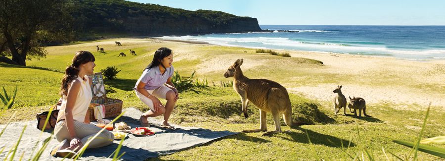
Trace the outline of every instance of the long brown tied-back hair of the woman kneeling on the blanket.
{"type": "Polygon", "coordinates": [[[90,61],[95,61],[94,55],[87,51],[79,51],[73,57],[73,63],[66,67],[65,76],[60,86],[60,96],[68,95],[68,85],[79,75],[79,66],[90,61]]]}

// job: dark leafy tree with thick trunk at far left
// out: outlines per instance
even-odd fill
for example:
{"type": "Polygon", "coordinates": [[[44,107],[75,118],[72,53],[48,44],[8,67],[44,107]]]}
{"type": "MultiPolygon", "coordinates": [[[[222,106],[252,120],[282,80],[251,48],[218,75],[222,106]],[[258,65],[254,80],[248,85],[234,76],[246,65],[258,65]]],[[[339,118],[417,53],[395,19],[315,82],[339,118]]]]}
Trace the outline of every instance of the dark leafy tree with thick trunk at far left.
{"type": "Polygon", "coordinates": [[[0,61],[26,66],[45,43],[70,39],[70,0],[0,0],[0,61]],[[7,56],[12,56],[12,59],[7,56]]]}

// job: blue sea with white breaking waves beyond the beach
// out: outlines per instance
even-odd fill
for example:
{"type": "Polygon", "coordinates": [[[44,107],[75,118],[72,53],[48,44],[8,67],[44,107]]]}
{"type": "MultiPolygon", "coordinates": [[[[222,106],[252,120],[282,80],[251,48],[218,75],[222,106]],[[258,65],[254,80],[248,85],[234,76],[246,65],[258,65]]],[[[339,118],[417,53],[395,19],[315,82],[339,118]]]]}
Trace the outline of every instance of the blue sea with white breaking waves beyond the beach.
{"type": "Polygon", "coordinates": [[[260,25],[273,33],[165,36],[215,45],[325,53],[445,59],[445,26],[260,25]]]}

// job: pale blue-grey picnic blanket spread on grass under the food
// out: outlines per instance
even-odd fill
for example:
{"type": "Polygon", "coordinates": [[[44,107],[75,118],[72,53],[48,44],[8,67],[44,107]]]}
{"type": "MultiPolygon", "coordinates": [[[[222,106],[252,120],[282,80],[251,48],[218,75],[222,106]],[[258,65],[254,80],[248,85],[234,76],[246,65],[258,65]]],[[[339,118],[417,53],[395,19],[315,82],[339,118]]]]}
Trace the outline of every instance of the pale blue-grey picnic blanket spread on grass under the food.
{"type": "MultiPolygon", "coordinates": [[[[124,121],[131,127],[140,126],[139,116],[142,112],[135,108],[126,108],[124,110],[126,110],[126,113],[119,118],[117,122],[124,121]]],[[[8,151],[16,145],[17,141],[19,140],[20,133],[25,125],[27,125],[27,127],[20,140],[14,160],[18,160],[23,153],[24,160],[28,160],[29,158],[33,157],[31,156],[33,150],[40,149],[42,147],[43,140],[51,135],[51,131],[42,133],[39,129],[37,129],[36,122],[37,121],[9,123],[4,133],[0,136],[0,150],[4,148],[3,152],[0,153],[0,160],[3,160],[8,151]],[[40,142],[37,144],[36,148],[36,143],[38,141],[40,142]]],[[[162,121],[160,120],[149,118],[149,122],[150,130],[154,131],[155,135],[136,137],[129,134],[119,152],[119,154],[125,152],[124,156],[121,158],[122,160],[143,161],[147,158],[156,158],[161,155],[169,155],[190,147],[203,145],[224,136],[237,134],[236,132],[212,131],[197,127],[175,126],[176,129],[171,130],[160,127],[159,125],[162,125],[162,121]]],[[[0,125],[0,130],[2,130],[4,127],[5,125],[0,125]]],[[[87,149],[81,159],[84,161],[107,160],[107,158],[116,150],[119,142],[120,140],[115,140],[111,145],[106,147],[87,149]]],[[[57,140],[52,137],[40,160],[61,160],[60,158],[50,156],[51,150],[57,144],[57,140]]],[[[35,153],[36,152],[34,152],[34,155],[35,153]]]]}

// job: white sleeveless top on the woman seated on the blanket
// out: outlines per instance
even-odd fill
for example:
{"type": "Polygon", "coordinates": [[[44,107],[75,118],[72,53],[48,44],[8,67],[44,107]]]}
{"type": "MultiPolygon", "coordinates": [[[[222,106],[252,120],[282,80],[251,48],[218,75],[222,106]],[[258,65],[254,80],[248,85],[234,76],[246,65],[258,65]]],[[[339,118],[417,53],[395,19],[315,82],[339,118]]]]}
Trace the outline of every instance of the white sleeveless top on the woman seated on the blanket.
{"type": "MultiPolygon", "coordinates": [[[[89,77],[85,76],[87,81],[84,81],[79,76],[76,78],[81,82],[81,87],[79,93],[77,94],[76,102],[73,107],[73,118],[79,122],[85,121],[85,115],[89,107],[89,103],[92,99],[91,87],[89,86],[89,77]]],[[[65,119],[65,108],[66,108],[66,96],[62,97],[62,106],[60,107],[59,113],[57,114],[57,120],[65,119]]]]}

